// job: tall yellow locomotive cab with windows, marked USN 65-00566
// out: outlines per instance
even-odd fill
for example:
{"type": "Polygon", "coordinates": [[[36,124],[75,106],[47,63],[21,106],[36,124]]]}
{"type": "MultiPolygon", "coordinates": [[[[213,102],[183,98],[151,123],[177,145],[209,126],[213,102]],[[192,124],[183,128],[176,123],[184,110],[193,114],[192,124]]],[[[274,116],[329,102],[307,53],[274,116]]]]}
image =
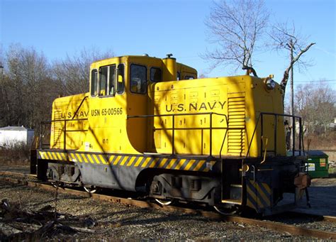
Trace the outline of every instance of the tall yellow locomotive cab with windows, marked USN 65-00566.
{"type": "MultiPolygon", "coordinates": [[[[91,116],[86,151],[147,152],[147,121],[127,116],[147,114],[147,86],[181,77],[197,77],[194,68],[172,57],[114,57],[91,65],[91,116]]],[[[85,149],[82,147],[80,149],[85,149]]]]}

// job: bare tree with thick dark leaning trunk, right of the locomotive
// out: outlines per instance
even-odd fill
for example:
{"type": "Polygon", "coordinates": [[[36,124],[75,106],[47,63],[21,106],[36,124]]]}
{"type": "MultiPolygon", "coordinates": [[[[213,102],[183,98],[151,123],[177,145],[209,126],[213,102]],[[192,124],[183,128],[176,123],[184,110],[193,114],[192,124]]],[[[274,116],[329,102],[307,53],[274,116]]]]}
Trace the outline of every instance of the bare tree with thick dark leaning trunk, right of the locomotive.
{"type": "Polygon", "coordinates": [[[309,65],[301,59],[301,56],[306,53],[310,47],[315,43],[306,43],[306,38],[296,31],[294,24],[289,27],[287,23],[279,23],[273,26],[270,34],[273,39],[273,45],[276,50],[288,51],[291,58],[289,59],[289,65],[284,71],[284,77],[282,77],[280,85],[284,91],[284,97],[286,92],[286,85],[289,80],[289,72],[293,70],[293,66],[297,63],[300,67],[306,67],[309,65]]]}

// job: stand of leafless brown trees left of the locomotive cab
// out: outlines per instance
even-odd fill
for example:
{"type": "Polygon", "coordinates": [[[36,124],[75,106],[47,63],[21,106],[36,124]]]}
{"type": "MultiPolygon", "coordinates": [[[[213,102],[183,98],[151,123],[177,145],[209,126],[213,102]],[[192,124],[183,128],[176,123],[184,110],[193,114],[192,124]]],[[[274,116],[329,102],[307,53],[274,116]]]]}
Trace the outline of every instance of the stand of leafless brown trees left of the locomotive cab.
{"type": "Polygon", "coordinates": [[[11,45],[4,64],[1,62],[5,68],[1,77],[0,126],[38,127],[40,121],[50,119],[52,101],[59,94],[88,92],[91,62],[111,56],[111,52],[84,49],[50,68],[45,55],[35,48],[11,45]]]}

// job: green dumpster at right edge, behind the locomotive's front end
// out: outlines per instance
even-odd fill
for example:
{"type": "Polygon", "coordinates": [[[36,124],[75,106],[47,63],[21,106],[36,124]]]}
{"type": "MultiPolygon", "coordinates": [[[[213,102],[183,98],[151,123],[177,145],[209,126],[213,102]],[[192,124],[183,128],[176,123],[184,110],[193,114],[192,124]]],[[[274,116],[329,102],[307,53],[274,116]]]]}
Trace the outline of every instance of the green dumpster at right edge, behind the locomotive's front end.
{"type": "Polygon", "coordinates": [[[321,150],[309,150],[308,174],[311,178],[329,177],[327,158],[327,154],[321,150]]]}

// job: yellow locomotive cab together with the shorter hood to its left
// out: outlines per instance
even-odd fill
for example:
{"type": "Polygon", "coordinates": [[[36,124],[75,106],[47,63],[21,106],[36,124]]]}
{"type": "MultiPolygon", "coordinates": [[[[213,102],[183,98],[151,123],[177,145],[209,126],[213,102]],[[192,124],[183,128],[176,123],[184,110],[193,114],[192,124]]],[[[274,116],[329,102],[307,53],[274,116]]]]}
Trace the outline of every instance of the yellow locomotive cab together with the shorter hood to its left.
{"type": "Polygon", "coordinates": [[[127,116],[147,114],[147,86],[177,77],[196,78],[194,68],[172,57],[113,57],[90,68],[89,93],[55,99],[50,148],[84,152],[147,152],[147,121],[127,116]],[[64,127],[59,119],[68,121],[64,127]],[[86,120],[78,120],[86,119],[86,120]],[[64,129],[67,129],[66,137],[64,129]],[[80,142],[79,142],[80,141],[80,142]]]}

